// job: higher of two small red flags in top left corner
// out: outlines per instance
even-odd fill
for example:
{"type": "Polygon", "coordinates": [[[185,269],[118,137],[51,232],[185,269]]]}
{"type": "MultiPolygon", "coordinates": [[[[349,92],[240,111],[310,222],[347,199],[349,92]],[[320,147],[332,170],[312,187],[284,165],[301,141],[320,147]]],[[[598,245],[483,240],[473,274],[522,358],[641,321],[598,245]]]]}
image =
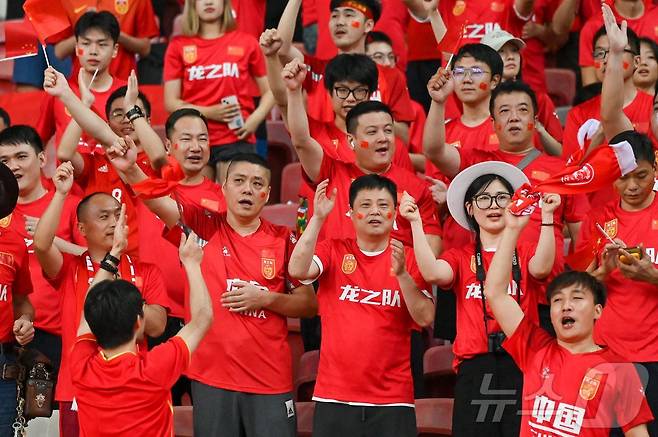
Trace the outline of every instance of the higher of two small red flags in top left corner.
{"type": "Polygon", "coordinates": [[[71,22],[60,0],[26,0],[23,10],[41,44],[57,42],[73,34],[71,22]]]}

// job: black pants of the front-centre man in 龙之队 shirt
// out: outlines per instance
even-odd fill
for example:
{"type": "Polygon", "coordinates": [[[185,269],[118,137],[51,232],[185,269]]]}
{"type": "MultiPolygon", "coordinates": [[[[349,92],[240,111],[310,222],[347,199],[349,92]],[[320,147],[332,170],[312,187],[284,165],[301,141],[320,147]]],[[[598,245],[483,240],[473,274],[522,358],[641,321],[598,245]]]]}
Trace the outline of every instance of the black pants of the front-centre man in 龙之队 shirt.
{"type": "Polygon", "coordinates": [[[313,437],[416,437],[411,407],[357,407],[316,402],[313,437]]]}

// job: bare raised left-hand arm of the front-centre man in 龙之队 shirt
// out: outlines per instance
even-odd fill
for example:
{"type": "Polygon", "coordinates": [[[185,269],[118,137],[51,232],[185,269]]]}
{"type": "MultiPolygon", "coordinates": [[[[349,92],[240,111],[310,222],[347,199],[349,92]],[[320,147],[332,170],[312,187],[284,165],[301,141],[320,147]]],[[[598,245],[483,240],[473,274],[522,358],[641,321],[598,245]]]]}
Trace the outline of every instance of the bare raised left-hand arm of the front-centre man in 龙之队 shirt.
{"type": "Polygon", "coordinates": [[[290,255],[288,273],[295,279],[313,281],[320,276],[320,267],[313,262],[313,255],[315,254],[315,246],[318,242],[318,235],[320,234],[322,225],[336,203],[336,188],[327,197],[328,186],[329,179],[325,179],[318,184],[313,201],[313,206],[315,207],[313,216],[306,225],[304,233],[302,233],[295,249],[290,255]]]}

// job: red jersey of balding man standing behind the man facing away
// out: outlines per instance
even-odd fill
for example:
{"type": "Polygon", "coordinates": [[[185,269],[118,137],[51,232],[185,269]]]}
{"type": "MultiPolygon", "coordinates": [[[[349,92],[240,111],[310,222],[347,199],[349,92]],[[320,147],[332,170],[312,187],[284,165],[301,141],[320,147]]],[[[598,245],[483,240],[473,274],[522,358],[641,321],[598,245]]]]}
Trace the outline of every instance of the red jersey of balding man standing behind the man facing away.
{"type": "MultiPolygon", "coordinates": [[[[56,277],[48,279],[51,285],[62,294],[62,362],[55,391],[55,398],[58,401],[73,400],[71,365],[74,361],[71,351],[75,345],[87,287],[94,279],[98,269],[99,266],[93,263],[86,254],[82,256],[64,254],[64,262],[59,273],[56,277]]],[[[140,263],[124,255],[121,260],[120,273],[123,279],[131,281],[139,288],[147,304],[169,308],[167,289],[158,267],[153,264],[140,263]]],[[[144,347],[146,347],[145,344],[144,347]]]]}

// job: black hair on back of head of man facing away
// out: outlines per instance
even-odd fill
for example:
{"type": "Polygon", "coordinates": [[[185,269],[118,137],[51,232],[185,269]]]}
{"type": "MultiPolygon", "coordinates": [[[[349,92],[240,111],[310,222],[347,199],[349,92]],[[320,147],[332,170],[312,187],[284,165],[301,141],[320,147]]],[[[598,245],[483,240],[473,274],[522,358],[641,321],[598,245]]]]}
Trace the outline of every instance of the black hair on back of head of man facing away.
{"type": "Polygon", "coordinates": [[[85,319],[98,345],[111,349],[135,335],[138,317],[144,317],[144,299],[131,282],[105,280],[91,287],[84,305],[85,319]]]}

